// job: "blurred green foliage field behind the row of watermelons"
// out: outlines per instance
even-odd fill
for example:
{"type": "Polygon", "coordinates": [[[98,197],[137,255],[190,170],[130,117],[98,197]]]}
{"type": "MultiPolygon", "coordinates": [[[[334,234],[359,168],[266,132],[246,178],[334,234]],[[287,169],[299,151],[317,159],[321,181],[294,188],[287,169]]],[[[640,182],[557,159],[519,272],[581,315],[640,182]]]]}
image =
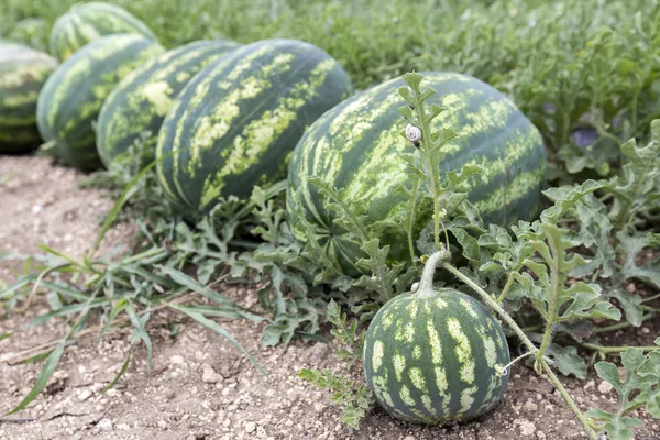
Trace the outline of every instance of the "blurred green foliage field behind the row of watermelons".
{"type": "MultiPolygon", "coordinates": [[[[120,0],[167,47],[200,38],[305,40],[358,88],[405,72],[455,70],[507,92],[570,173],[604,176],[618,144],[660,116],[660,6],[654,0],[120,0]],[[600,132],[586,153],[575,129],[600,132]]],[[[47,48],[75,0],[3,0],[0,37],[47,48]]],[[[587,133],[588,134],[588,133],[587,133]]],[[[559,167],[553,177],[564,177],[559,167]]]]}

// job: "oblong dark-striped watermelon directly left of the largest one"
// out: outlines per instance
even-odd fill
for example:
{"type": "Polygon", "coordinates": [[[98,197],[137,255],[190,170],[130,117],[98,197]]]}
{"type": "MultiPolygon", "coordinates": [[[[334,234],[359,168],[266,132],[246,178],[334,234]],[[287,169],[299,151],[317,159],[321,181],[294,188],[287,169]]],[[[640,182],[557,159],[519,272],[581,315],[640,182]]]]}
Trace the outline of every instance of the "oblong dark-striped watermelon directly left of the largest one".
{"type": "Polygon", "coordinates": [[[188,213],[286,177],[305,129],[351,90],[320,48],[293,40],[245,45],[201,70],[167,113],[156,147],[168,199],[188,213]]]}

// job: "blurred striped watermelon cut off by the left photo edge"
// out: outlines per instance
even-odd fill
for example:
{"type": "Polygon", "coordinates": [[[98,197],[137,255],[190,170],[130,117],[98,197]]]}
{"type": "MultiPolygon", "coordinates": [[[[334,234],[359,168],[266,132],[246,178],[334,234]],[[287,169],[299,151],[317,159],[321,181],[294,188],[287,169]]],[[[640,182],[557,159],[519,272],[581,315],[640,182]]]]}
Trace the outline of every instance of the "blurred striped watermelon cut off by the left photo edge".
{"type": "Polygon", "coordinates": [[[36,100],[56,67],[43,52],[0,42],[0,153],[26,153],[41,143],[36,100]]]}

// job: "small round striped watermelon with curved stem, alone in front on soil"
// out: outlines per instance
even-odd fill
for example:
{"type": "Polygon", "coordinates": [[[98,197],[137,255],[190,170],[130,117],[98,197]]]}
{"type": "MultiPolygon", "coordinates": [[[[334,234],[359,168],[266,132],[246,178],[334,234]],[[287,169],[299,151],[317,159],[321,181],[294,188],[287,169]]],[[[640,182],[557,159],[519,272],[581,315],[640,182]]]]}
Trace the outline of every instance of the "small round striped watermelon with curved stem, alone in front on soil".
{"type": "Polygon", "coordinates": [[[432,257],[417,292],[387,301],[370,323],[364,376],[394,417],[428,425],[464,421],[501,402],[510,355],[499,322],[471,296],[433,288],[430,264],[432,257]]]}

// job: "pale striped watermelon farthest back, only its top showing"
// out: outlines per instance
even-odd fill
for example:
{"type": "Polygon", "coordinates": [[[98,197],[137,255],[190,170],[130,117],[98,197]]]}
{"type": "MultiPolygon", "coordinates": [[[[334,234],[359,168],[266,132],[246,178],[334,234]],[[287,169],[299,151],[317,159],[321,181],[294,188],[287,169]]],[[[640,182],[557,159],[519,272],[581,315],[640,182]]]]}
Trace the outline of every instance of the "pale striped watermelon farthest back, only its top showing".
{"type": "Polygon", "coordinates": [[[51,31],[51,54],[65,61],[103,35],[122,33],[143,35],[157,42],[146,24],[123,8],[97,1],[76,3],[55,21],[51,31]]]}

